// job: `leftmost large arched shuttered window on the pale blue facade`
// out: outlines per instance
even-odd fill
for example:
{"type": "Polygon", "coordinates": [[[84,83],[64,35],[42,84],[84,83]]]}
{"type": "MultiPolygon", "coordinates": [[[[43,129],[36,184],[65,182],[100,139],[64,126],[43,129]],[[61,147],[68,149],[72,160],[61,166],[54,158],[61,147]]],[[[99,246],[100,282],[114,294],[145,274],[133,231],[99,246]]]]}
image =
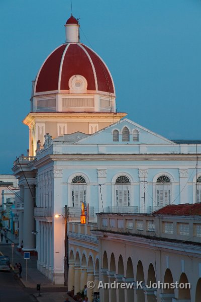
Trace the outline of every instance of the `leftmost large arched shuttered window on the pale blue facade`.
{"type": "Polygon", "coordinates": [[[72,206],[80,206],[86,202],[86,181],[83,176],[75,176],[71,183],[72,206]]]}

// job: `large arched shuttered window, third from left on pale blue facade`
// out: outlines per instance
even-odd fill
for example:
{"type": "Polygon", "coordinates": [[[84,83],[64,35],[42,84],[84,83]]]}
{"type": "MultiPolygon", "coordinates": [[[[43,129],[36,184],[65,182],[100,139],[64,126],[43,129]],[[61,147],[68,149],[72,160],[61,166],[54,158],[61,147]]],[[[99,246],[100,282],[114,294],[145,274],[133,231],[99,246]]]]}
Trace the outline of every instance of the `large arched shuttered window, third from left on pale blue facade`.
{"type": "Polygon", "coordinates": [[[161,175],[156,181],[157,205],[159,207],[170,204],[171,181],[168,176],[161,175]]]}

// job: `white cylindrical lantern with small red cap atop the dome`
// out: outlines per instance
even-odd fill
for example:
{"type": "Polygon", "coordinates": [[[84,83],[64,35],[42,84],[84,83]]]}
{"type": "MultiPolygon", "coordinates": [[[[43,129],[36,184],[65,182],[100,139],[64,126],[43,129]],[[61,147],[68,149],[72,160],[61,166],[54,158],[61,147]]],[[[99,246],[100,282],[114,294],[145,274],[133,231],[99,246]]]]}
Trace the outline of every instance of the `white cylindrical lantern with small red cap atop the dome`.
{"type": "Polygon", "coordinates": [[[64,26],[66,28],[66,43],[79,42],[79,23],[72,13],[64,26]]]}

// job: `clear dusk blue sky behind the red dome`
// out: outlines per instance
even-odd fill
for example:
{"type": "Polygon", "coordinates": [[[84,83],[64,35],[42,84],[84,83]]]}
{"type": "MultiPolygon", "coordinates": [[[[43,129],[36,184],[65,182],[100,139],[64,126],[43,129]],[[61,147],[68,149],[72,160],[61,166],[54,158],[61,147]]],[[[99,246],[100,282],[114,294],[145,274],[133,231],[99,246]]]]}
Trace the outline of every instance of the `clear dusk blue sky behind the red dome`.
{"type": "MultiPolygon", "coordinates": [[[[72,7],[81,42],[113,75],[118,111],[169,139],[201,139],[201,1],[73,0],[72,7]]],[[[65,42],[70,14],[70,0],[1,0],[1,174],[29,148],[22,120],[31,81],[65,42]]]]}

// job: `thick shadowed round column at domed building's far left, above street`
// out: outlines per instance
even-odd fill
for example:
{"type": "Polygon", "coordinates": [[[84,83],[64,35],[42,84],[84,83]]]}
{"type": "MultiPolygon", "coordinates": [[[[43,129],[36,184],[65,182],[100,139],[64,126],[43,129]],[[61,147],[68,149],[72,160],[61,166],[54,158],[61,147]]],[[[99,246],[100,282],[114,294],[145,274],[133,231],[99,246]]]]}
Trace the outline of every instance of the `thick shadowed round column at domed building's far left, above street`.
{"type": "Polygon", "coordinates": [[[33,200],[33,186],[25,185],[24,187],[24,228],[23,228],[23,251],[35,250],[35,235],[32,231],[35,230],[34,218],[34,200],[33,200]],[[31,189],[31,191],[30,191],[31,189]],[[31,193],[32,192],[32,193],[31,193]]]}

